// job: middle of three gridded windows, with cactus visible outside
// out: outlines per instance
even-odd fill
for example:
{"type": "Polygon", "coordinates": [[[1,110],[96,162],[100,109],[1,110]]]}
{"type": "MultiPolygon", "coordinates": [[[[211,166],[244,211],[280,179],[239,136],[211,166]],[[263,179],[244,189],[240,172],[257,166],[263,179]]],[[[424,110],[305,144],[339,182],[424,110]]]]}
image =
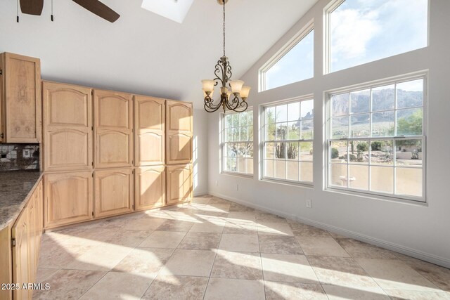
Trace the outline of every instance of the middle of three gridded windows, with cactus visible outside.
{"type": "Polygon", "coordinates": [[[311,184],[314,100],[263,107],[263,178],[311,184]]]}

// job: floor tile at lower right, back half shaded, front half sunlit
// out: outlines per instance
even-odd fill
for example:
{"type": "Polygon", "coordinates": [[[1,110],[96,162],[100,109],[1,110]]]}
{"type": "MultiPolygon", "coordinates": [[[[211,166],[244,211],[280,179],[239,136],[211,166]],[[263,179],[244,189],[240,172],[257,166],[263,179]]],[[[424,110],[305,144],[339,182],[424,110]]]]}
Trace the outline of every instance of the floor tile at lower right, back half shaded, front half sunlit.
{"type": "Polygon", "coordinates": [[[322,285],[342,287],[378,287],[376,282],[352,258],[307,256],[322,285]]]}

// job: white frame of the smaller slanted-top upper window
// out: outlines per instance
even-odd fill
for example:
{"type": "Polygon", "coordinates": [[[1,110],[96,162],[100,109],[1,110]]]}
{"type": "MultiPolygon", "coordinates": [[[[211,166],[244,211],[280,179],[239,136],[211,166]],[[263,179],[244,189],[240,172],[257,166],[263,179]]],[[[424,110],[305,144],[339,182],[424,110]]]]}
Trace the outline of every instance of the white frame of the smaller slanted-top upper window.
{"type": "MultiPolygon", "coordinates": [[[[342,0],[342,1],[345,1],[345,0],[342,0]]],[[[299,44],[300,41],[302,41],[302,39],[304,39],[304,37],[306,37],[313,30],[314,30],[314,19],[307,22],[307,24],[304,25],[304,27],[302,27],[302,29],[297,34],[295,34],[295,36],[292,39],[290,39],[288,41],[288,43],[286,43],[283,47],[281,47],[280,50],[278,50],[274,54],[274,56],[269,58],[269,60],[267,60],[267,62],[264,63],[264,65],[262,65],[262,67],[259,68],[259,70],[258,70],[258,77],[259,77],[258,92],[259,93],[262,91],[271,90],[271,89],[266,89],[266,72],[271,67],[273,67],[276,63],[278,63],[278,60],[281,60],[281,58],[283,58],[283,56],[285,56],[285,54],[287,54],[295,46],[297,46],[297,44],[299,44]]],[[[314,48],[314,44],[313,44],[313,48],[314,48]]],[[[310,78],[305,78],[305,79],[295,81],[295,82],[300,82],[300,81],[311,79],[311,78],[314,78],[314,62],[313,62],[313,76],[310,78]]],[[[295,82],[292,82],[291,84],[293,84],[295,82]]],[[[283,84],[282,86],[285,86],[285,85],[288,85],[288,84],[283,84]]],[[[281,86],[277,86],[272,89],[277,89],[279,87],[281,87],[281,86]]]]}

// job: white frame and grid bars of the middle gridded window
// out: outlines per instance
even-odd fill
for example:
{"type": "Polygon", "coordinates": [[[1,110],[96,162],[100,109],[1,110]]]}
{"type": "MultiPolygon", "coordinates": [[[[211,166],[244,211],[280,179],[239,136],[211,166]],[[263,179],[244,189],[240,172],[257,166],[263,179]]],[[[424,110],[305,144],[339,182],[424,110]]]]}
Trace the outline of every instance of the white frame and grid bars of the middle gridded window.
{"type": "MultiPolygon", "coordinates": [[[[314,94],[310,93],[304,96],[299,96],[299,97],[294,97],[294,98],[288,98],[288,99],[284,99],[284,100],[278,100],[275,102],[271,102],[271,103],[264,103],[262,105],[260,105],[260,118],[259,118],[259,122],[261,124],[260,126],[260,148],[259,148],[259,161],[260,161],[260,172],[261,172],[261,176],[260,176],[260,180],[262,181],[268,181],[271,183],[283,183],[283,184],[288,184],[288,185],[300,185],[303,187],[307,187],[307,188],[313,188],[314,187],[314,136],[313,138],[310,139],[297,139],[297,140],[274,140],[274,141],[266,141],[265,140],[265,136],[266,136],[266,107],[276,107],[278,105],[283,105],[283,104],[288,104],[288,103],[300,103],[300,107],[301,107],[301,103],[302,101],[307,101],[307,100],[312,100],[314,103],[314,94]],[[299,152],[299,158],[297,160],[297,162],[308,162],[312,164],[312,171],[313,171],[313,175],[312,175],[312,181],[293,181],[290,179],[283,179],[283,178],[274,178],[274,177],[266,177],[264,176],[264,162],[266,160],[266,143],[311,143],[313,145],[313,159],[312,161],[301,161],[300,160],[300,152],[299,152]]],[[[313,109],[314,109],[314,105],[313,105],[313,109]]],[[[300,108],[301,111],[301,108],[300,108]]],[[[301,116],[300,116],[301,117],[301,116]]],[[[312,119],[306,119],[306,120],[312,120],[313,124],[314,124],[314,116],[312,119]]],[[[288,121],[286,122],[288,123],[288,121]]],[[[277,124],[277,123],[275,123],[277,124]]],[[[313,129],[313,134],[314,134],[314,129],[313,129]]],[[[301,137],[301,136],[300,136],[301,137]]],[[[275,156],[275,154],[274,154],[275,156]]],[[[274,160],[275,159],[269,159],[269,160],[274,160]]],[[[285,162],[288,162],[288,159],[285,159],[285,162]]],[[[275,169],[274,169],[275,171],[275,169]]],[[[285,169],[285,173],[286,173],[286,178],[287,176],[287,171],[288,168],[285,169]]],[[[300,171],[299,171],[299,178],[300,178],[300,171]]]]}

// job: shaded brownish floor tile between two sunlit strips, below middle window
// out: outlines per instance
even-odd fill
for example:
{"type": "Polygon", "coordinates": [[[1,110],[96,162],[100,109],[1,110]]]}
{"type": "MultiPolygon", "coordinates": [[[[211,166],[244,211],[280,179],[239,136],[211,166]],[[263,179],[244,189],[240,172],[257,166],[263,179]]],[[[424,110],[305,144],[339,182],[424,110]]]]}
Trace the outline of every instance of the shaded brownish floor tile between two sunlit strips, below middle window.
{"type": "Polygon", "coordinates": [[[272,254],[303,254],[295,237],[283,235],[259,235],[261,253],[272,254]]]}

